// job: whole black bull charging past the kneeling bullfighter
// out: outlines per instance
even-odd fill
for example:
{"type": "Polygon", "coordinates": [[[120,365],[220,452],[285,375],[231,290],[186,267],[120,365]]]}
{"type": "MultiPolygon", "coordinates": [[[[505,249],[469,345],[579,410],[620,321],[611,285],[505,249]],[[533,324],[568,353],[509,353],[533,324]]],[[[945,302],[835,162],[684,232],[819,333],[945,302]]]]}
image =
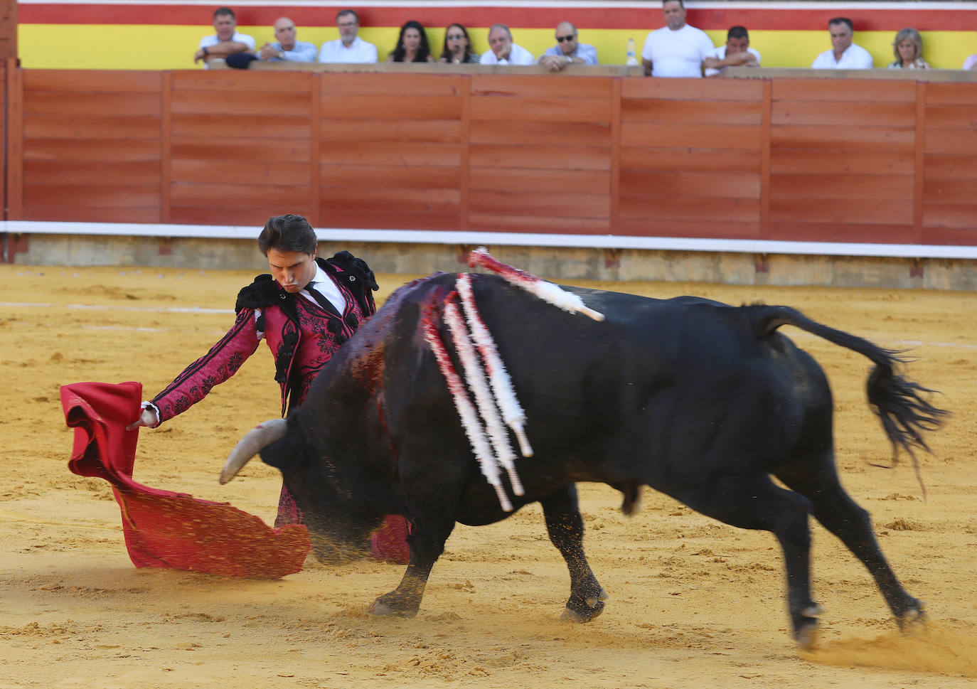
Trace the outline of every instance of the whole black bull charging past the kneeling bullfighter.
{"type": "MultiPolygon", "coordinates": [[[[510,514],[480,473],[422,337],[425,310],[442,304],[453,281],[441,275],[398,290],[325,367],[305,404],[251,431],[222,474],[230,480],[260,451],[281,470],[321,559],[360,551],[385,514],[407,517],[410,563],[400,585],[374,601],[378,615],[416,614],[456,522],[510,514]]],[[[607,597],[583,552],[577,481],[614,486],[625,511],[651,486],[727,524],[772,532],[802,643],[819,611],[809,514],[868,568],[900,624],[920,616],[922,603],[889,568],[868,512],[839,483],[825,373],[778,328],[794,325],[870,359],[869,402],[893,447],[925,448],[922,432],[944,412],[896,372],[897,353],[783,306],[568,288],[606,315],[597,323],[495,276],[473,276],[473,284],[535,451],[516,462],[526,494],[510,496],[516,509],[542,505],[570,569],[566,617],[590,620],[607,597]]]]}

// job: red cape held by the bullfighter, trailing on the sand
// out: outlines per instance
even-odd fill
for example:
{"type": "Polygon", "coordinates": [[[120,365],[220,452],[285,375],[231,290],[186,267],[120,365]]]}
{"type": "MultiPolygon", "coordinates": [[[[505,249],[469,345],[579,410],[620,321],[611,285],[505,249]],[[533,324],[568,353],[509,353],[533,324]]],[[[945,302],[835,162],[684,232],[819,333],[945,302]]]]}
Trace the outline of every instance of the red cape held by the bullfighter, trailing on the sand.
{"type": "Polygon", "coordinates": [[[226,502],[194,499],[132,480],[139,430],[140,383],[74,383],[61,389],[64,420],[74,431],[68,468],[103,478],[122,509],[122,532],[136,567],[192,570],[252,579],[279,579],[302,569],[309,531],[273,529],[226,502]]]}

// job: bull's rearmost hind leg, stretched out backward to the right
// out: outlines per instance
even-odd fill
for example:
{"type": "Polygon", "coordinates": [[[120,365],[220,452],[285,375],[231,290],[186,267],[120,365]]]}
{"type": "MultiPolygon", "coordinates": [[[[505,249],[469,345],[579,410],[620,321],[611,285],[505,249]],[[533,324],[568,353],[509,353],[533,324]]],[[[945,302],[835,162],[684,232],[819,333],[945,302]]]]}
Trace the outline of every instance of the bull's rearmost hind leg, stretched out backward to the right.
{"type": "Polygon", "coordinates": [[[810,499],[815,518],[862,561],[900,627],[922,615],[922,601],[906,592],[889,567],[872,532],[869,512],[845,493],[830,456],[792,462],[777,471],[777,478],[810,499]]]}

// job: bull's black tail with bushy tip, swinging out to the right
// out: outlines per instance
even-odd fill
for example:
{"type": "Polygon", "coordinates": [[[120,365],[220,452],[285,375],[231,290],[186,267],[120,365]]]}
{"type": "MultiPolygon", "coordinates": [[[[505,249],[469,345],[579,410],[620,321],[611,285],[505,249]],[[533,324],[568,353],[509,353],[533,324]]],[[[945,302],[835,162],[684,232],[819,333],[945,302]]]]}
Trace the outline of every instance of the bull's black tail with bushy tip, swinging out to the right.
{"type": "Polygon", "coordinates": [[[900,356],[905,350],[882,349],[862,337],[812,321],[790,307],[749,308],[757,310],[753,323],[759,328],[757,334],[763,337],[770,336],[781,325],[793,325],[870,359],[875,366],[871,369],[867,384],[869,404],[892,443],[893,461],[899,448],[903,448],[913,458],[913,466],[918,475],[913,447],[932,452],[923,439],[923,433],[937,430],[943,425],[943,419],[949,412],[934,407],[926,399],[935,390],[924,388],[897,372],[908,361],[900,356]]]}

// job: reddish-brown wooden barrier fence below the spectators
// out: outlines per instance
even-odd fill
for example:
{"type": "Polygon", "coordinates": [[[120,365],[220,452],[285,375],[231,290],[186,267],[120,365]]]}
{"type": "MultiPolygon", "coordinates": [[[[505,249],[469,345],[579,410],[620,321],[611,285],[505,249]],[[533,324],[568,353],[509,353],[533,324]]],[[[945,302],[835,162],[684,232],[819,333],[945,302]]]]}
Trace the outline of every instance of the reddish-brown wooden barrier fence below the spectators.
{"type": "Polygon", "coordinates": [[[24,70],[7,219],[977,245],[977,84],[24,70]]]}

